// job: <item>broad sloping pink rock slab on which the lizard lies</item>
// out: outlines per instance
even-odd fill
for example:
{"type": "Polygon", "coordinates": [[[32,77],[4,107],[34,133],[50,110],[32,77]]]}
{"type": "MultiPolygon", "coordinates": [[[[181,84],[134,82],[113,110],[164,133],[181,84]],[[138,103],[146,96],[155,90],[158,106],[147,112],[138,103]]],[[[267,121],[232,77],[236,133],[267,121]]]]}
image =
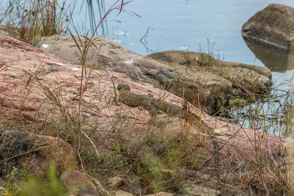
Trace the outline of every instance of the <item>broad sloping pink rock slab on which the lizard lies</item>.
{"type": "MultiPolygon", "coordinates": [[[[46,54],[28,44],[13,38],[0,37],[0,112],[5,114],[8,120],[17,117],[25,125],[34,125],[36,122],[49,125],[59,121],[63,115],[52,110],[57,106],[66,108],[70,114],[75,114],[79,103],[77,97],[80,91],[81,70],[81,66],[73,65],[52,54],[46,54]],[[15,58],[16,56],[18,58],[15,58]],[[60,101],[56,103],[54,102],[56,100],[60,101]]],[[[203,145],[201,160],[197,165],[215,167],[214,159],[210,159],[214,154],[214,146],[207,134],[200,133],[195,126],[183,130],[185,122],[182,119],[165,113],[159,113],[155,119],[152,119],[144,108],[134,108],[125,104],[117,106],[113,99],[115,93],[112,80],[115,85],[128,84],[131,91],[136,94],[150,93],[155,98],[165,98],[166,101],[179,106],[183,103],[182,98],[154,88],[151,84],[134,81],[123,73],[90,69],[86,71],[88,83],[86,91],[83,92],[80,117],[84,123],[98,127],[91,132],[91,135],[89,134],[89,137],[99,151],[104,148],[113,149],[109,141],[116,141],[116,131],[122,133],[121,140],[130,149],[141,144],[141,139],[150,131],[154,131],[156,137],[163,139],[181,136],[184,132],[191,136],[187,144],[197,146],[201,140],[203,145]],[[155,130],[150,130],[150,125],[155,130]]],[[[257,130],[221,122],[202,114],[197,109],[195,112],[199,118],[214,128],[216,139],[220,141],[219,164],[227,166],[229,163],[236,166],[234,167],[236,170],[246,167],[246,164],[240,164],[240,160],[248,163],[252,161],[252,157],[255,157],[256,146],[252,144],[260,146],[263,160],[267,160],[269,156],[271,159],[281,158],[281,145],[288,144],[271,134],[265,135],[257,130]]]]}

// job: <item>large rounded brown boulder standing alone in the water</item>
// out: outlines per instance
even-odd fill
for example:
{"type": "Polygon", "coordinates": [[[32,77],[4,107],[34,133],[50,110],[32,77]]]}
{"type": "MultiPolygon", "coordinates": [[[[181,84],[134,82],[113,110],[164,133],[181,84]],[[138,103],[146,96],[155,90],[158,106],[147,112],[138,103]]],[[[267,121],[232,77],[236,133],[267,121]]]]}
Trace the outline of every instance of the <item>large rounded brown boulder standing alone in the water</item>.
{"type": "Polygon", "coordinates": [[[242,35],[285,49],[294,48],[294,8],[270,4],[242,27],[242,35]]]}

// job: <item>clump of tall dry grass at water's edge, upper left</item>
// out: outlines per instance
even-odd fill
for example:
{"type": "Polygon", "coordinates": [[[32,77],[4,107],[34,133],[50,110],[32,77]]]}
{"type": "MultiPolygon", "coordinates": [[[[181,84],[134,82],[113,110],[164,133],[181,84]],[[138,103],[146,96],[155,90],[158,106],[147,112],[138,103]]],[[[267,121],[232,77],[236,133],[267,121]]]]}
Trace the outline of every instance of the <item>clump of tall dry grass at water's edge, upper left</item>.
{"type": "Polygon", "coordinates": [[[39,47],[42,36],[65,35],[74,3],[65,7],[66,0],[14,0],[0,15],[0,24],[7,26],[10,36],[39,47]]]}

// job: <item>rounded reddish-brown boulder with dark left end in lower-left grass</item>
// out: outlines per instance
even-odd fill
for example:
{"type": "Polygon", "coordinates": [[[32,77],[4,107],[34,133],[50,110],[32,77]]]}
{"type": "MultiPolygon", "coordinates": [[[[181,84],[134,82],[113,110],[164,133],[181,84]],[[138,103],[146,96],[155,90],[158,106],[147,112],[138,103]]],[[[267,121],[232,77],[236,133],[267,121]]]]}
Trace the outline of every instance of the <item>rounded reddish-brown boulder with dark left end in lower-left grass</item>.
{"type": "Polygon", "coordinates": [[[36,177],[46,176],[52,165],[56,166],[57,171],[75,167],[73,148],[60,138],[23,131],[5,131],[0,136],[0,143],[1,161],[24,156],[21,160],[22,166],[28,168],[36,177]]]}

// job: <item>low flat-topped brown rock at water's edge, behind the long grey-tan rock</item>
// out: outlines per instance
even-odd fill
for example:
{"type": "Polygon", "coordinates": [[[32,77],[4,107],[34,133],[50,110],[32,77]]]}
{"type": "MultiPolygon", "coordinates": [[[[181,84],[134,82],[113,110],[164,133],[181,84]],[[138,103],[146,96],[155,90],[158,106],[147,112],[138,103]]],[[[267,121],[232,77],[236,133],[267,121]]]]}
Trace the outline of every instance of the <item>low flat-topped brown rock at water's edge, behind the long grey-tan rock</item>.
{"type": "Polygon", "coordinates": [[[174,67],[182,66],[184,69],[194,72],[203,81],[204,85],[219,97],[219,101],[223,99],[223,95],[218,95],[219,89],[221,89],[222,94],[226,95],[229,94],[233,87],[240,84],[248,89],[252,86],[259,89],[266,89],[271,86],[271,72],[265,67],[223,62],[205,53],[194,51],[167,50],[148,56],[160,62],[167,62],[174,67]],[[213,68],[211,67],[212,65],[213,68]],[[209,71],[213,75],[207,73],[209,71]],[[219,76],[216,76],[216,74],[219,76]],[[214,80],[218,80],[220,83],[214,80]],[[227,83],[225,80],[229,80],[232,84],[227,83]]]}

